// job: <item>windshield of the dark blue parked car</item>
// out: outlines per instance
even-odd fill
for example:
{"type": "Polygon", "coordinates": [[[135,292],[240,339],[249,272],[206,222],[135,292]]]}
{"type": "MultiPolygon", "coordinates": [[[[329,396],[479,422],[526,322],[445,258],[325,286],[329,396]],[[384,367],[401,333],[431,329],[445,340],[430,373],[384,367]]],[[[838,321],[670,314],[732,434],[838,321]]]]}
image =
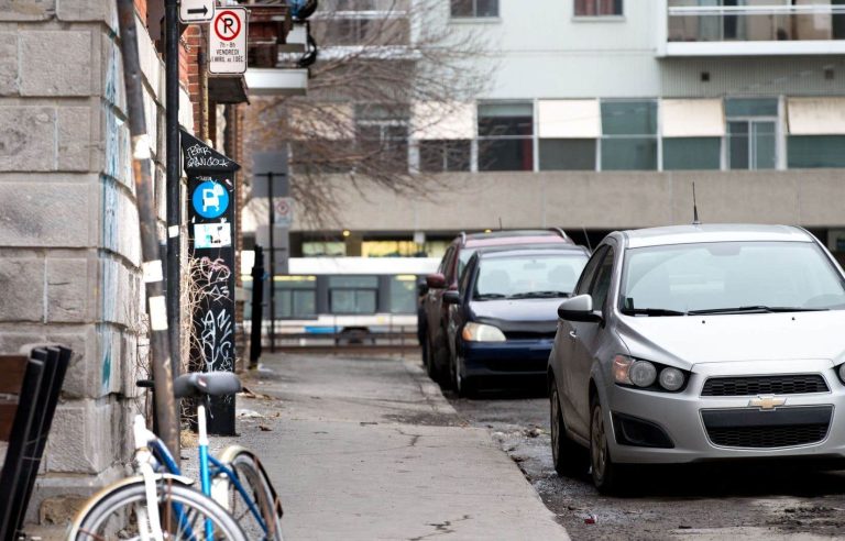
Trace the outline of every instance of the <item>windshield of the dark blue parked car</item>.
{"type": "Polygon", "coordinates": [[[567,297],[586,264],[583,254],[518,255],[481,261],[473,298],[567,297]]]}

